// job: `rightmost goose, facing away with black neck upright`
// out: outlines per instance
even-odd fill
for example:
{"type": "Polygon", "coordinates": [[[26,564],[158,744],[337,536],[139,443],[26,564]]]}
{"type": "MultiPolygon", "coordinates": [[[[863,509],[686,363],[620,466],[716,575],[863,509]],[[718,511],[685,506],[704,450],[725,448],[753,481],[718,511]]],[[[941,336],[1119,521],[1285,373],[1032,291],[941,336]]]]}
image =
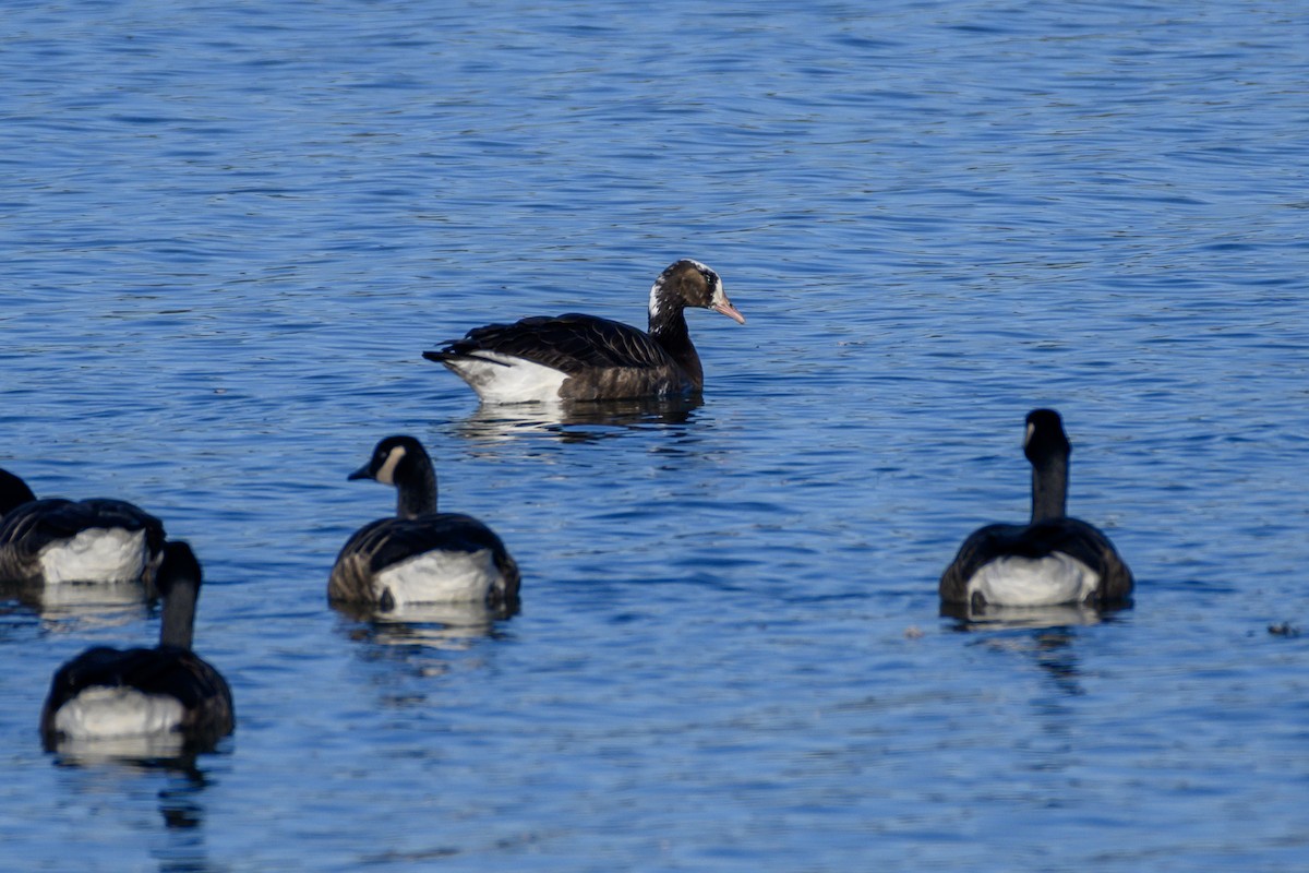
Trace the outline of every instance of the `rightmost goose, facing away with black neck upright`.
{"type": "Polygon", "coordinates": [[[941,599],[974,609],[1127,599],[1132,573],[1113,543],[1064,514],[1072,446],[1058,412],[1028,415],[1022,450],[1031,462],[1031,524],[974,531],[941,575],[941,599]]]}

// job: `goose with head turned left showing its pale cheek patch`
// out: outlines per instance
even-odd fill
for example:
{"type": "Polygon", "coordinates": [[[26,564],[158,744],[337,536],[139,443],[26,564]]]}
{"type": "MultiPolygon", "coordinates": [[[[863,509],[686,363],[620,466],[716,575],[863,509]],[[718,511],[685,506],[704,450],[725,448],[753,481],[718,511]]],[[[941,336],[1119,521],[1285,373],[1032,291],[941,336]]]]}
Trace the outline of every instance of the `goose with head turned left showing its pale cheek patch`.
{"type": "Polygon", "coordinates": [[[395,517],[360,527],[336,556],[327,597],[385,611],[415,603],[483,602],[518,607],[518,565],[471,516],[436,510],[436,472],[423,444],[386,437],[348,479],[395,486],[395,517]]]}

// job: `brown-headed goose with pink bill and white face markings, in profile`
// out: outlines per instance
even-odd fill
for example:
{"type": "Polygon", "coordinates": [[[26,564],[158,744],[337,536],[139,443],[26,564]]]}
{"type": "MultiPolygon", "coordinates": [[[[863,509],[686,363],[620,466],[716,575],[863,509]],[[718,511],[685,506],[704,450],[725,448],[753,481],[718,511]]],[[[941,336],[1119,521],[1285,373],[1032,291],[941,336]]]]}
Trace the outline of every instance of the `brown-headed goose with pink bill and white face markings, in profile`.
{"type": "Polygon", "coordinates": [[[611,401],[691,394],[704,386],[683,310],[712,309],[744,325],[723,280],[698,260],[669,266],[651,288],[649,332],[569,313],[475,327],[423,357],[440,361],[483,401],[611,401]]]}

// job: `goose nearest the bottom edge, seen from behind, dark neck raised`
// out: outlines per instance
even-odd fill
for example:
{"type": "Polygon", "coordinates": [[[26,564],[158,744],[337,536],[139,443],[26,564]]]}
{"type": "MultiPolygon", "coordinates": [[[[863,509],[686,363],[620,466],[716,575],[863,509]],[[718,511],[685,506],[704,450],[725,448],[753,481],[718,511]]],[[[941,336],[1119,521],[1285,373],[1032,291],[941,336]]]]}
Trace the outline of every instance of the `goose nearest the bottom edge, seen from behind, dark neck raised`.
{"type": "Polygon", "coordinates": [[[47,750],[123,738],[204,750],[232,733],[232,691],[191,650],[200,564],[187,543],[164,547],[156,585],[164,598],[158,647],[96,647],[59,668],[41,712],[47,750]]]}

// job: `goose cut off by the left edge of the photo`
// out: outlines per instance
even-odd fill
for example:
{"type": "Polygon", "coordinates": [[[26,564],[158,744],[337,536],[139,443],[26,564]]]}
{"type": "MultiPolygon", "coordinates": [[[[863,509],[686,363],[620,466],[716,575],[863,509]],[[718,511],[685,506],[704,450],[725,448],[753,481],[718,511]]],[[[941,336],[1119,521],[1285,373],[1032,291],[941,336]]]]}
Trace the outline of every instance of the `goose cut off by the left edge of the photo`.
{"type": "Polygon", "coordinates": [[[0,580],[151,582],[164,524],[123,500],[37,500],[0,470],[0,580]]]}

